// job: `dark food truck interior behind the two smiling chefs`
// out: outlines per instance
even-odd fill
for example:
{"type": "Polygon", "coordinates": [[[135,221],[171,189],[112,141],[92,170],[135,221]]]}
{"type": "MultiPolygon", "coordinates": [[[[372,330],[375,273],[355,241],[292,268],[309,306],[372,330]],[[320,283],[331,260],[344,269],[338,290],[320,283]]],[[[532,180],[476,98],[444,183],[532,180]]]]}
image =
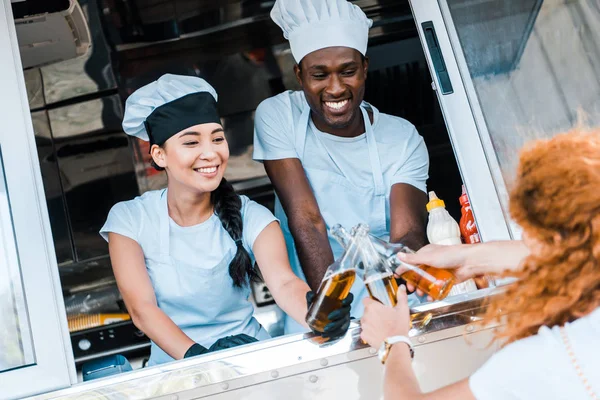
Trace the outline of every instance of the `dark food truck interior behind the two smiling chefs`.
{"type": "MultiPolygon", "coordinates": [[[[34,10],[13,3],[17,27],[34,10]]],[[[91,49],[36,66],[22,54],[29,106],[54,238],[73,353],[87,361],[122,354],[143,363],[149,339],[133,325],[116,288],[98,231],[117,202],[166,185],[149,163],[148,144],[121,129],[125,99],[164,73],[200,76],[219,93],[231,149],[226,177],[240,194],[273,210],[264,168],[252,160],[258,104],[298,90],[294,60],[260,0],[79,0],[91,49]]],[[[432,88],[408,0],[358,0],[374,21],[365,100],[413,123],[430,156],[428,188],[460,219],[462,179],[432,88]]],[[[64,10],[70,0],[44,7],[64,10]]],[[[17,29],[19,34],[19,29],[17,29]]],[[[272,336],[282,312],[257,283],[251,300],[272,336]]]]}

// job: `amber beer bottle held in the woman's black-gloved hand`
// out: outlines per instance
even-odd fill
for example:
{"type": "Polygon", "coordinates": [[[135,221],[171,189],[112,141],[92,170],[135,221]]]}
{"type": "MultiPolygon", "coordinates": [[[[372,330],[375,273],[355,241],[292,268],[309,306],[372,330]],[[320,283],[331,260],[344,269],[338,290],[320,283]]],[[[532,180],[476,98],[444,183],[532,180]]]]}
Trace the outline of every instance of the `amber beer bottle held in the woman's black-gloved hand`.
{"type": "Polygon", "coordinates": [[[342,307],[354,280],[359,257],[355,237],[347,238],[347,247],[342,256],[327,268],[315,298],[306,313],[306,323],[317,332],[323,333],[331,321],[329,314],[342,307]]]}

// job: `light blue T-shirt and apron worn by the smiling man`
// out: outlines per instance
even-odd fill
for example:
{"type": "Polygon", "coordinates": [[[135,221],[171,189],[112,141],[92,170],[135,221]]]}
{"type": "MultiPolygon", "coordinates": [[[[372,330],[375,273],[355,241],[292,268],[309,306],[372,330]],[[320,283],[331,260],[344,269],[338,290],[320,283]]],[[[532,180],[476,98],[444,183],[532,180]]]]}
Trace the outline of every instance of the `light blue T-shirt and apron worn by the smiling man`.
{"type": "MultiPolygon", "coordinates": [[[[320,132],[307,118],[303,92],[287,91],[271,97],[256,110],[254,159],[298,158],[328,228],[341,223],[349,229],[362,222],[369,224],[375,235],[389,239],[391,188],[405,183],[425,192],[429,157],[423,138],[408,121],[382,114],[368,103],[361,108],[372,112],[373,124],[368,123],[369,129],[358,137],[340,138],[320,132]]],[[[281,221],[292,269],[305,279],[279,201],[275,215],[281,221]]],[[[331,237],[330,244],[334,258],[339,258],[343,249],[331,237]]],[[[361,300],[367,292],[358,281],[352,292],[352,315],[360,318],[361,300]]],[[[410,300],[411,304],[418,302],[416,296],[410,300]]],[[[293,326],[288,318],[286,332],[296,331],[300,327],[293,326]]]]}

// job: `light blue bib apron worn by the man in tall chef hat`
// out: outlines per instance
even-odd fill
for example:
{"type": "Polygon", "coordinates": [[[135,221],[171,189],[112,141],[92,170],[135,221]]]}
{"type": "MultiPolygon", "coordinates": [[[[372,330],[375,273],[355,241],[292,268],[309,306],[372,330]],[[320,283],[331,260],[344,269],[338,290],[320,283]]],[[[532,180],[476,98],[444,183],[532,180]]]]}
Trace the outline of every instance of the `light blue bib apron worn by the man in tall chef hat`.
{"type": "MultiPolygon", "coordinates": [[[[323,147],[331,161],[343,174],[342,176],[329,170],[304,167],[308,181],[312,187],[315,198],[317,199],[319,209],[321,210],[321,215],[325,220],[327,230],[335,224],[341,224],[347,229],[350,229],[356,224],[363,222],[369,225],[372,234],[378,237],[387,238],[389,237],[386,226],[387,195],[383,173],[381,171],[381,163],[379,161],[379,152],[377,150],[373,127],[370,123],[367,110],[364,108],[364,104],[361,105],[360,110],[365,122],[369,161],[373,173],[373,180],[365,182],[364,186],[357,186],[346,178],[347,176],[350,176],[348,173],[350,171],[344,171],[343,164],[339,163],[336,160],[336,157],[327,150],[327,147],[321,142],[319,135],[312,132],[312,129],[309,126],[310,107],[308,106],[308,103],[304,105],[302,116],[295,127],[295,148],[298,153],[298,158],[303,162],[306,137],[310,134],[315,135],[317,142],[323,147]]],[[[373,108],[373,113],[376,118],[378,111],[375,108],[373,108]]],[[[281,228],[290,255],[292,269],[298,277],[306,281],[306,277],[300,266],[300,261],[298,260],[298,254],[288,226],[287,217],[278,198],[275,199],[275,216],[281,221],[281,228]]],[[[334,258],[339,258],[343,253],[342,247],[331,235],[329,235],[329,243],[331,244],[334,258]]],[[[357,279],[355,281],[354,286],[352,287],[352,293],[354,294],[352,316],[360,318],[363,314],[362,299],[368,295],[362,280],[357,279]]],[[[306,331],[306,328],[302,327],[291,317],[286,316],[286,334],[303,331],[306,331]]]]}

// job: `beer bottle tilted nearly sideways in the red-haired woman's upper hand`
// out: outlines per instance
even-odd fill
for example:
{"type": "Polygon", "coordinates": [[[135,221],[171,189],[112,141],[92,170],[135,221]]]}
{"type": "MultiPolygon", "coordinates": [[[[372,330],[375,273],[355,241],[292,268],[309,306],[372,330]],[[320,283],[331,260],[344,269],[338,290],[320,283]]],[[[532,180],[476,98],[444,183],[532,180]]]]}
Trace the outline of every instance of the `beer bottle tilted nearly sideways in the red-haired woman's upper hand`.
{"type": "Polygon", "coordinates": [[[442,300],[448,296],[456,283],[456,277],[450,270],[428,265],[411,265],[400,261],[397,257],[398,253],[414,253],[407,246],[401,243],[388,243],[372,235],[369,236],[369,239],[371,239],[375,249],[387,258],[392,270],[400,266],[407,269],[400,277],[431,296],[434,300],[442,300]]]}

